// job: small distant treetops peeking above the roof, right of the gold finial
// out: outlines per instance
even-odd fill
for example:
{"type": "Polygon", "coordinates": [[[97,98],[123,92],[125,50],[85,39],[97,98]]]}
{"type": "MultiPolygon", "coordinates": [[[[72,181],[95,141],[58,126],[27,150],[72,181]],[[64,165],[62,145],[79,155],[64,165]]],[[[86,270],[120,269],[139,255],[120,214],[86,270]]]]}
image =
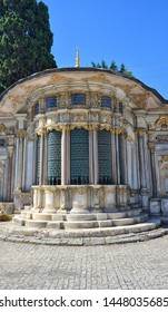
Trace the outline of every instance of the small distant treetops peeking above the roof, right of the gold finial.
{"type": "Polygon", "coordinates": [[[108,66],[105,60],[97,64],[91,61],[91,65],[92,67],[112,69],[116,72],[121,72],[129,77],[132,77],[132,72],[126,68],[125,64],[121,64],[120,67],[118,67],[115,60],[111,61],[110,66],[108,66]]]}

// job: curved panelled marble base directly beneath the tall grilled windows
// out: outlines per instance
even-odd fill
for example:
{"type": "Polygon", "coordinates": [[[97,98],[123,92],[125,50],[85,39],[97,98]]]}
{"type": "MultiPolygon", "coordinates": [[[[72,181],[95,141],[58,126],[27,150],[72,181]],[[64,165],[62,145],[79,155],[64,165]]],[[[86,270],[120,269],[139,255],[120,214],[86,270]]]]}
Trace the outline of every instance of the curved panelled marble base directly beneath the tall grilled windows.
{"type": "Polygon", "coordinates": [[[127,185],[42,185],[32,193],[32,211],[39,213],[110,213],[129,203],[127,185]]]}

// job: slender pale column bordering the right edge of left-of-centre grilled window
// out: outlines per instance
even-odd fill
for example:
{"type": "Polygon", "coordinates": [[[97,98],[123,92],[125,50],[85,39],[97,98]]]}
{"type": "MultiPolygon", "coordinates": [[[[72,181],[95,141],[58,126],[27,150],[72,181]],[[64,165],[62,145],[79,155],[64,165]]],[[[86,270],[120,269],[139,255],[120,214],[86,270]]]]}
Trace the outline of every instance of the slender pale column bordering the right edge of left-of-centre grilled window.
{"type": "Polygon", "coordinates": [[[67,135],[66,135],[66,128],[62,128],[62,136],[61,136],[61,185],[66,185],[66,168],[67,168],[67,135]]]}

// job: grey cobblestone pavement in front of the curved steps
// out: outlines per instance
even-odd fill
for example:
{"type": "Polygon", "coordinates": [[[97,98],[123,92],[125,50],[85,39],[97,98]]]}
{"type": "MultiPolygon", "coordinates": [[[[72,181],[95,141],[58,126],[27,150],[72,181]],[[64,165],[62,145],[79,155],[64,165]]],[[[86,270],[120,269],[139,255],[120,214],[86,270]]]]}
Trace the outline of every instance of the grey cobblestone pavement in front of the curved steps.
{"type": "Polygon", "coordinates": [[[168,235],[140,243],[47,246],[0,242],[0,289],[168,289],[168,235]]]}

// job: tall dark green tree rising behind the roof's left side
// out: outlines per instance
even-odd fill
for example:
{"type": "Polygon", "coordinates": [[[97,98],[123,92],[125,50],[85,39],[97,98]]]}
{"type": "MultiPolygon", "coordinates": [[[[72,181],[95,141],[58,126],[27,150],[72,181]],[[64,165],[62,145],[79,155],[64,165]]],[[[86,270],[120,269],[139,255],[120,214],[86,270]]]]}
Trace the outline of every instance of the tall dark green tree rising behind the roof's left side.
{"type": "Polygon", "coordinates": [[[14,81],[57,67],[48,7],[37,0],[0,0],[0,91],[14,81]]]}

